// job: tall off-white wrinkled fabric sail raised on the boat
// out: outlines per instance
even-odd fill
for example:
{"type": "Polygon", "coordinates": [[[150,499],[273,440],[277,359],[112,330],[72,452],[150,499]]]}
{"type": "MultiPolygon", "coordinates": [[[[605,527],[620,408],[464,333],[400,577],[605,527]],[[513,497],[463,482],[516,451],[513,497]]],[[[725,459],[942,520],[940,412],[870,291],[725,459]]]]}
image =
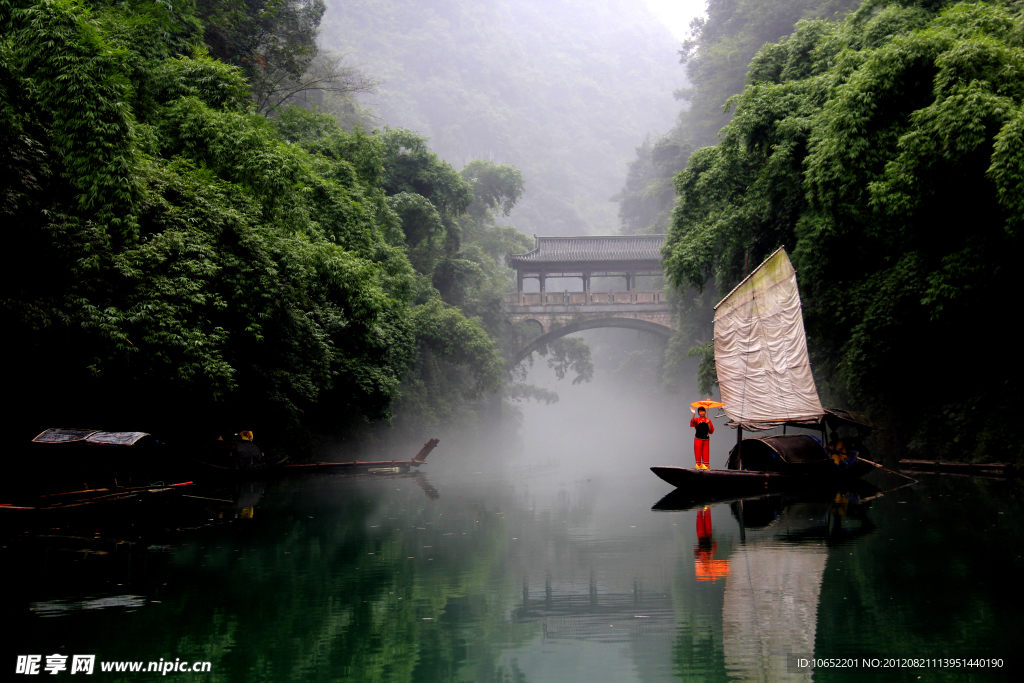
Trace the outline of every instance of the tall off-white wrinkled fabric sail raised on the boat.
{"type": "Polygon", "coordinates": [[[715,368],[732,422],[759,428],[820,421],[797,271],[784,249],[715,306],[715,368]]]}

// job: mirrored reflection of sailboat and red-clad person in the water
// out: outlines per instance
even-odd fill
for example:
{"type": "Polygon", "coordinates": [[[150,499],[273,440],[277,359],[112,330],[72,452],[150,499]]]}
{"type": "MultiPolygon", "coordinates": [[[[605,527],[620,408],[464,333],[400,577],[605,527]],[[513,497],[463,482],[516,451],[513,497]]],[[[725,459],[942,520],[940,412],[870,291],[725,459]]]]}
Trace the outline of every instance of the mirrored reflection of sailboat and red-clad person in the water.
{"type": "MultiPolygon", "coordinates": [[[[796,670],[791,658],[814,656],[829,548],[849,546],[871,532],[867,513],[879,493],[862,486],[835,494],[773,495],[708,505],[694,503],[692,493],[674,492],[655,504],[655,511],[695,509],[696,579],[725,580],[720,607],[721,666],[728,678],[812,680],[813,670],[796,670]],[[739,543],[726,558],[716,559],[712,516],[726,510],[736,523],[739,543]]],[[[694,663],[686,658],[682,664],[691,669],[694,663]]],[[[701,668],[707,666],[703,663],[701,668]]]]}

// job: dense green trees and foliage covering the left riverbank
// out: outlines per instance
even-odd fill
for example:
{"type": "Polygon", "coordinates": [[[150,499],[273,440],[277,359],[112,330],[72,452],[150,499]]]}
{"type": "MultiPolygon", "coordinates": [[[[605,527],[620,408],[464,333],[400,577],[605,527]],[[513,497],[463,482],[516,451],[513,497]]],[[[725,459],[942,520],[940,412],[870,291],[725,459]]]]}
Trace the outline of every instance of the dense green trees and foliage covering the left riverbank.
{"type": "Polygon", "coordinates": [[[295,105],[372,87],[317,67],[323,3],[0,8],[9,424],[294,445],[501,390],[522,176],[295,105]]]}

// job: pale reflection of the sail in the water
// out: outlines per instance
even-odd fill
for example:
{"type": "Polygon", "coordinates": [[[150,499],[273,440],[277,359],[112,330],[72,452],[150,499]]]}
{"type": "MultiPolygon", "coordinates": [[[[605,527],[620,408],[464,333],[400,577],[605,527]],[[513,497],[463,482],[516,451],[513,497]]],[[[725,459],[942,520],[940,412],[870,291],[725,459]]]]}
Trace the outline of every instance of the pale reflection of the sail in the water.
{"type": "Polygon", "coordinates": [[[814,655],[823,547],[741,546],[730,558],[722,635],[725,668],[740,681],[811,681],[787,655],[814,655]]]}

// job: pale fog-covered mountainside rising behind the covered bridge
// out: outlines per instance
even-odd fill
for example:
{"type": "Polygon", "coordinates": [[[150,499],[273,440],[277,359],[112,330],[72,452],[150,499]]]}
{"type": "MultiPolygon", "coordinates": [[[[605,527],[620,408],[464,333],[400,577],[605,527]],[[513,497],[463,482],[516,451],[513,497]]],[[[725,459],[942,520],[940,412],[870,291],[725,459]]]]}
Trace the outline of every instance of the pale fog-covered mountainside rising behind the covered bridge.
{"type": "Polygon", "coordinates": [[[616,232],[609,200],[685,80],[643,0],[329,0],[322,43],[381,81],[360,97],[379,124],[456,168],[522,171],[510,220],[526,234],[616,232]]]}

